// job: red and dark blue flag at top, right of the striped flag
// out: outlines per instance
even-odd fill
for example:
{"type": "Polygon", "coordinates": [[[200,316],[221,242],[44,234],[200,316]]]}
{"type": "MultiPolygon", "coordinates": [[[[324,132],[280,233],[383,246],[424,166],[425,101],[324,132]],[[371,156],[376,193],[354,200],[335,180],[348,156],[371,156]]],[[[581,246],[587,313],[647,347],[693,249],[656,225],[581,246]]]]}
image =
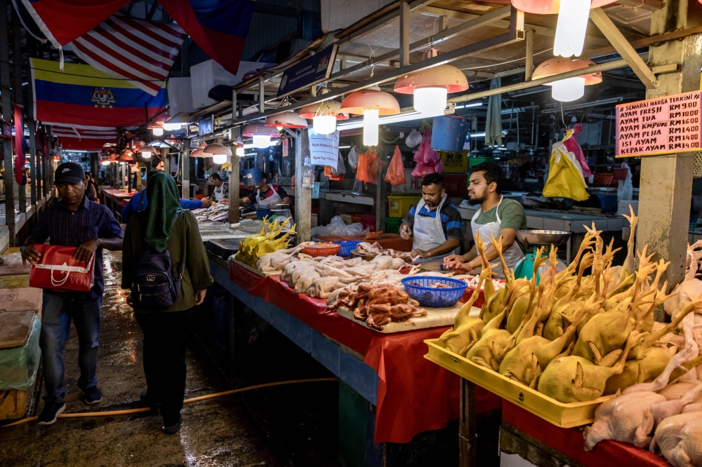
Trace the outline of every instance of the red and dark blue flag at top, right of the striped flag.
{"type": "Polygon", "coordinates": [[[159,4],[207,55],[227,72],[237,74],[253,1],[159,0],[159,4]]]}

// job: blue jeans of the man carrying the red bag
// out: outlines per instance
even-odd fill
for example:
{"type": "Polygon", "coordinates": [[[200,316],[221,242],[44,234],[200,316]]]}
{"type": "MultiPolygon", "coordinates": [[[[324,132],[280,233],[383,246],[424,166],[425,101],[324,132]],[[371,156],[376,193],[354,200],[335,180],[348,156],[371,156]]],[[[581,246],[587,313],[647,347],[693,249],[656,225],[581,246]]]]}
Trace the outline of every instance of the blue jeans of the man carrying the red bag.
{"type": "Polygon", "coordinates": [[[46,402],[62,404],[66,396],[64,386],[63,348],[70,335],[71,320],[78,333],[78,366],[81,389],[98,385],[95,370],[98,367],[98,339],[100,338],[100,304],[102,297],[73,298],[69,293],[44,290],[41,309],[41,361],[44,365],[46,402]]]}

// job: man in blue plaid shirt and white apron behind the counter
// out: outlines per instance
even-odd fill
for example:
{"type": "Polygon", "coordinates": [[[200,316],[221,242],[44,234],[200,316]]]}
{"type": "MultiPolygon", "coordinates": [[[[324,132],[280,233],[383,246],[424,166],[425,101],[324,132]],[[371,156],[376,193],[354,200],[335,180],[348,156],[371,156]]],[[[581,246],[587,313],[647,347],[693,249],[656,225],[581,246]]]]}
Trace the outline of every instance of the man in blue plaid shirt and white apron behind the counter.
{"type": "Polygon", "coordinates": [[[418,261],[441,261],[445,255],[461,252],[461,213],[446,196],[444,177],[432,173],[422,180],[422,199],[402,220],[399,234],[413,238],[412,252],[418,261]]]}

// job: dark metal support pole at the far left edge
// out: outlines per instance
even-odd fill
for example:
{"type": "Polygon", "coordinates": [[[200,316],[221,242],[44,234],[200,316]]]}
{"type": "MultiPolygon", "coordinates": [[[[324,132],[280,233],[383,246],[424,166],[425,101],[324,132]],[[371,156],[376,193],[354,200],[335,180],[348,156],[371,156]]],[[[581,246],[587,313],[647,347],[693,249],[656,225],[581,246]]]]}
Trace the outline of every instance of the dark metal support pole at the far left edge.
{"type": "MultiPolygon", "coordinates": [[[[7,14],[9,2],[0,0],[0,104],[2,116],[6,121],[12,121],[12,94],[10,89],[10,38],[7,31],[7,14]]],[[[3,128],[3,133],[6,136],[11,136],[10,128],[3,128]]],[[[13,185],[15,184],[15,171],[12,163],[12,141],[8,138],[3,139],[3,154],[4,154],[4,180],[5,180],[5,225],[9,232],[9,246],[15,246],[15,194],[13,185]]]]}

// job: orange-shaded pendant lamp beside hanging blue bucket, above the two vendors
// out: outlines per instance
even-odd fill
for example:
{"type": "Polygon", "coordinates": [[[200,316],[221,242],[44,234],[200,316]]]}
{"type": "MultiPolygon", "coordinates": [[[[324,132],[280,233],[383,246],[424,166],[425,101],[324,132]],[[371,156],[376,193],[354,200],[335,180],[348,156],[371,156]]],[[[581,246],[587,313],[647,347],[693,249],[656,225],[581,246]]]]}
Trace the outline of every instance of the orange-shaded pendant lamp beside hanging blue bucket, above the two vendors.
{"type": "MultiPolygon", "coordinates": [[[[437,55],[439,50],[430,48],[425,51],[424,58],[437,55]]],[[[438,65],[406,74],[395,83],[396,93],[414,95],[414,109],[423,116],[443,115],[448,94],[464,90],[468,90],[468,79],[453,65],[438,65]]]]}

